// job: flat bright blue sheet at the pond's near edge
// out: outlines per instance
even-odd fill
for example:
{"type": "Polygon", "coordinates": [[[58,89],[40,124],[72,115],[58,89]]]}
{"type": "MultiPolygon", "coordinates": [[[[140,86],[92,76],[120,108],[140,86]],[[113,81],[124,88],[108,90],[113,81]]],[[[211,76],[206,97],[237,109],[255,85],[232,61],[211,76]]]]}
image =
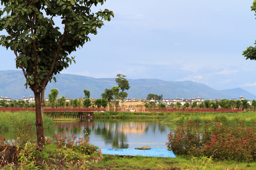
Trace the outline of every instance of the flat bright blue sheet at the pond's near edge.
{"type": "Polygon", "coordinates": [[[111,155],[130,155],[130,156],[152,156],[152,157],[169,157],[176,158],[173,151],[166,151],[165,149],[101,149],[102,154],[111,155]]]}

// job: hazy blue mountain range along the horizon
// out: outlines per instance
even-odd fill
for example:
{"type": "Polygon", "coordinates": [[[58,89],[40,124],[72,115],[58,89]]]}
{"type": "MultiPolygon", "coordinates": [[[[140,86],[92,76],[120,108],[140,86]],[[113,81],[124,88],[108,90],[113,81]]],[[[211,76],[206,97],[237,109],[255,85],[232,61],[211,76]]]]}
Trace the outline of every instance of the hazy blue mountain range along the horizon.
{"type": "MultiPolygon", "coordinates": [[[[91,92],[91,98],[100,98],[105,88],[117,86],[115,78],[93,78],[70,74],[56,75],[57,82],[46,86],[45,97],[48,97],[52,88],[57,88],[60,96],[70,99],[84,97],[83,90],[91,92]]],[[[21,99],[23,96],[34,95],[30,89],[26,89],[25,77],[22,71],[0,71],[0,96],[11,99],[21,99]]],[[[129,98],[146,98],[148,93],[163,94],[168,99],[173,98],[204,98],[208,99],[238,99],[241,95],[247,100],[256,99],[256,96],[241,88],[228,90],[215,90],[208,85],[192,81],[164,81],[159,79],[128,79],[130,89],[127,91],[129,98]]]]}

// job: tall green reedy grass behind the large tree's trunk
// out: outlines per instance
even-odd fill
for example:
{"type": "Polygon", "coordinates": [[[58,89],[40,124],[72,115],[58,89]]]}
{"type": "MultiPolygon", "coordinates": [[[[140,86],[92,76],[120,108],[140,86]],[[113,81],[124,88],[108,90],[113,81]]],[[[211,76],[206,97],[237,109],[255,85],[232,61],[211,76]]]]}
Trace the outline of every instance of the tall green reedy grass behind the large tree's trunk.
{"type": "MultiPolygon", "coordinates": [[[[26,128],[28,123],[31,129],[36,129],[36,113],[29,111],[0,112],[0,131],[16,130],[26,128]]],[[[44,115],[44,128],[54,128],[52,119],[44,115]]]]}

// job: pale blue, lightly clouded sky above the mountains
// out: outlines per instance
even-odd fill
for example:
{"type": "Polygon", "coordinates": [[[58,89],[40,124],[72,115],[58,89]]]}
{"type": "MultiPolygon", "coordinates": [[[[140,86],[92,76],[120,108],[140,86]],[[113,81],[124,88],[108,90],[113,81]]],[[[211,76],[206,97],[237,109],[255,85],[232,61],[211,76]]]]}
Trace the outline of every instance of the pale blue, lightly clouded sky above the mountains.
{"type": "MultiPolygon", "coordinates": [[[[253,0],[107,0],[115,17],[72,53],[62,73],[129,79],[191,80],[256,94],[256,61],[242,51],[256,40],[253,0]]],[[[0,47],[0,70],[16,69],[0,47]]]]}

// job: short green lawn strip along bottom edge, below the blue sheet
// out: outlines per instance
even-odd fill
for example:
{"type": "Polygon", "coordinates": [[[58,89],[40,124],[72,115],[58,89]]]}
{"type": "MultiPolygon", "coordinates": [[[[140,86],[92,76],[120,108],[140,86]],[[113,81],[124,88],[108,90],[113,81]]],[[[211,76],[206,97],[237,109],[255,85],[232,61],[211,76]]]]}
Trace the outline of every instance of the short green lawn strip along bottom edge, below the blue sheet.
{"type": "Polygon", "coordinates": [[[91,169],[111,170],[255,170],[256,162],[214,161],[210,158],[161,158],[104,155],[91,169]]]}

